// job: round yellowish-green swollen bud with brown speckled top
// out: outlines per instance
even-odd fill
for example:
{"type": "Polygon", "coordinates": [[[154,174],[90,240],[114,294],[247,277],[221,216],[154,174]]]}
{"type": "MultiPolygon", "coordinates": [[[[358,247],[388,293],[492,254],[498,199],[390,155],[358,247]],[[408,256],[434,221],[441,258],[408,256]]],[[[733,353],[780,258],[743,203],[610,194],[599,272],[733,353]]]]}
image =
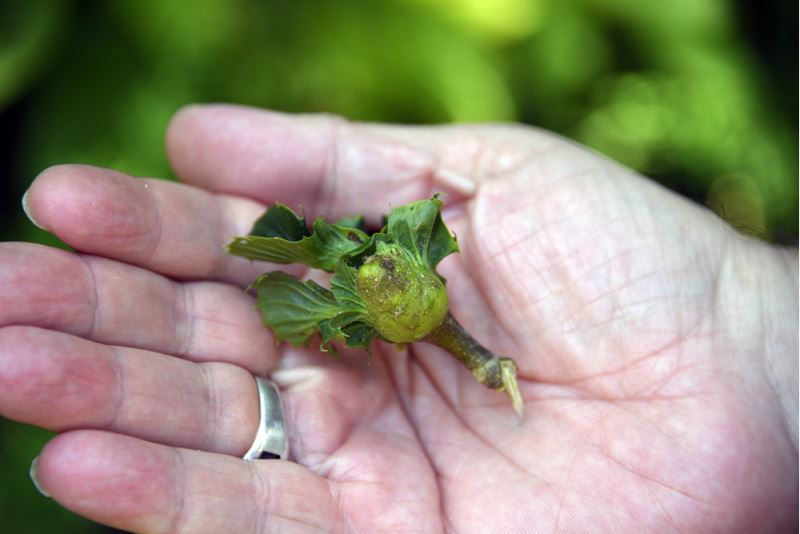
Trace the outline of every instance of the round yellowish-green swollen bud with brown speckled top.
{"type": "Polygon", "coordinates": [[[356,287],[372,326],[394,343],[419,341],[447,315],[442,280],[399,247],[378,247],[358,269],[356,287]]]}

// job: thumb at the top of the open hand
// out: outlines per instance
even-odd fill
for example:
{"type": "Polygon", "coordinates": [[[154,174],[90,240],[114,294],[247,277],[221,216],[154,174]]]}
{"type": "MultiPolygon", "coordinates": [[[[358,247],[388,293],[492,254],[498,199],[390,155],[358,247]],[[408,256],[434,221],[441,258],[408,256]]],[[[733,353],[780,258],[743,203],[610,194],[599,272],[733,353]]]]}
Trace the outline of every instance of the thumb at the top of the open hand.
{"type": "Polygon", "coordinates": [[[376,219],[390,202],[435,191],[471,195],[476,169],[464,160],[481,149],[458,142],[456,151],[444,148],[457,139],[444,130],[215,105],[179,112],[167,133],[167,151],[182,179],[210,190],[302,204],[314,215],[357,211],[376,219]]]}

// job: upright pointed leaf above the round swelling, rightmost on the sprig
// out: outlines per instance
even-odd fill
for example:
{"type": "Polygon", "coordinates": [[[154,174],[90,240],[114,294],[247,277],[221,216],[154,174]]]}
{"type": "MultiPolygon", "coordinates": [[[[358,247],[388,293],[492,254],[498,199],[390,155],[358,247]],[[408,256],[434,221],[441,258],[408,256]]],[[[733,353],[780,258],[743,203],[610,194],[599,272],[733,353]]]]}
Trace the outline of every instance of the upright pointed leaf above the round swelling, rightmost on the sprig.
{"type": "Polygon", "coordinates": [[[387,234],[419,263],[434,270],[442,259],[458,252],[458,243],[442,221],[438,195],[394,208],[389,214],[387,234]]]}

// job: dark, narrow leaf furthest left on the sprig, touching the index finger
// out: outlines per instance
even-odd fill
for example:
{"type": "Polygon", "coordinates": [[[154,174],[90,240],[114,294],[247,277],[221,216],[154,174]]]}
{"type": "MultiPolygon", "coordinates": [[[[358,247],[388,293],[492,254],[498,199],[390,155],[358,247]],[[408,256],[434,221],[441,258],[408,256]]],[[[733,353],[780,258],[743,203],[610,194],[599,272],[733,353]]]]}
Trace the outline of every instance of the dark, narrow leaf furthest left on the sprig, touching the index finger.
{"type": "Polygon", "coordinates": [[[308,233],[305,219],[276,204],[256,222],[253,234],[237,237],[228,244],[228,252],[251,260],[275,263],[303,263],[332,272],[336,263],[369,241],[358,228],[314,221],[308,233]]]}

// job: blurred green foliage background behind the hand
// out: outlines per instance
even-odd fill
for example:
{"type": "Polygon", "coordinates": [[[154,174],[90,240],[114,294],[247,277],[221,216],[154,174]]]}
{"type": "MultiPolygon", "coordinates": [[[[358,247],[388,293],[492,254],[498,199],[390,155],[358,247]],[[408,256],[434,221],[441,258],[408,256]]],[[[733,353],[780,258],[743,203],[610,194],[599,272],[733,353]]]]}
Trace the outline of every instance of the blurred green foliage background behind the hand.
{"type": "MultiPolygon", "coordinates": [[[[0,240],[58,244],[19,204],[45,167],[171,177],[169,117],[188,102],[226,101],[369,121],[534,124],[743,232],[797,243],[797,2],[0,6],[0,240]]],[[[0,525],[103,531],[35,493],[27,465],[48,437],[0,420],[0,525]]]]}

